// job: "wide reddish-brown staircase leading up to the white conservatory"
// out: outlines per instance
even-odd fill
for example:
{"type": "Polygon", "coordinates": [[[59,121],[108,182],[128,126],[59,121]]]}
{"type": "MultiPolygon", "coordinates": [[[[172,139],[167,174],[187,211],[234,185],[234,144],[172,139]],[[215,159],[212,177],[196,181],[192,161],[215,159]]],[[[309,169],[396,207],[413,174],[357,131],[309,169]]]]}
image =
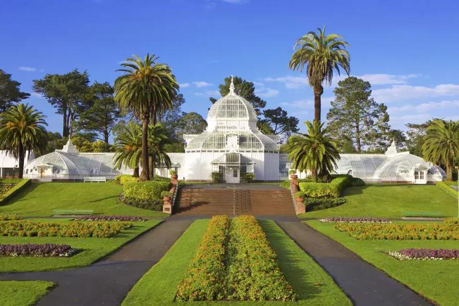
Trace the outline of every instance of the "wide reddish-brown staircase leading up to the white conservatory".
{"type": "Polygon", "coordinates": [[[290,191],[179,189],[173,214],[295,215],[290,191]],[[234,206],[233,206],[234,203],[234,206]]]}

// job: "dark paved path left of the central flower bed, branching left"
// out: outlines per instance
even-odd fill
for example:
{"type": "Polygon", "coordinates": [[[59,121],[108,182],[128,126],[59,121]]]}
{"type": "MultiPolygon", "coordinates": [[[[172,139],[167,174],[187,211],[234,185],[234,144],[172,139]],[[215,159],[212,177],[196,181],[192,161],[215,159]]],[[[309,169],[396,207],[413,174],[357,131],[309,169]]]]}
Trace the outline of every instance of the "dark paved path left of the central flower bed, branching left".
{"type": "Polygon", "coordinates": [[[58,287],[37,305],[119,305],[148,269],[160,261],[192,220],[167,220],[127,243],[110,257],[83,268],[2,273],[1,281],[50,281],[58,287]]]}

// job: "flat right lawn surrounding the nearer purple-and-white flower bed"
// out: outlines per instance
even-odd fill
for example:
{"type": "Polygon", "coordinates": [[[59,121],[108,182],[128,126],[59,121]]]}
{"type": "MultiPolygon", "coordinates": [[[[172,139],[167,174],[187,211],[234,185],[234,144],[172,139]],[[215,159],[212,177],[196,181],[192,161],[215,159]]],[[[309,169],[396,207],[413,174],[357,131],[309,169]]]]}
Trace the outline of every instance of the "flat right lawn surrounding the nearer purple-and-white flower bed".
{"type": "Polygon", "coordinates": [[[442,306],[457,305],[459,300],[459,261],[400,261],[386,253],[403,248],[459,249],[455,240],[356,240],[338,231],[333,223],[306,221],[324,235],[335,239],[362,259],[391,277],[442,306]]]}

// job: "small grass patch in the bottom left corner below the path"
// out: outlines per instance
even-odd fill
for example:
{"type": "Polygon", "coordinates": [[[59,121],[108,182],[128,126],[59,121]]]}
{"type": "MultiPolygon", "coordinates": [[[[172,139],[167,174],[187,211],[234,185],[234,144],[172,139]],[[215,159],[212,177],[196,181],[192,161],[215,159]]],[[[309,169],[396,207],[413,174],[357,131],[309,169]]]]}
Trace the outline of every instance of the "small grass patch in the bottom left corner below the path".
{"type": "Polygon", "coordinates": [[[2,306],[34,305],[54,286],[44,281],[0,281],[0,301],[2,306]]]}

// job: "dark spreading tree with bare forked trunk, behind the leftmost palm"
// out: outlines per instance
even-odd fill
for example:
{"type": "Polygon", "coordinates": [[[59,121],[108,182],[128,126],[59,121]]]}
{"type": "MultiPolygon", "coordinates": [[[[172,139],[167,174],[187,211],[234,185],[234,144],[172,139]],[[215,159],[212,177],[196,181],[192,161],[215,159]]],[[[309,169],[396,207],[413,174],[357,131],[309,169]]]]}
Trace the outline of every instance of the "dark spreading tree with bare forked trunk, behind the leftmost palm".
{"type": "Polygon", "coordinates": [[[65,74],[46,74],[40,80],[34,80],[33,90],[44,96],[62,115],[62,136],[68,137],[75,130],[75,121],[80,114],[88,110],[92,101],[87,98],[89,74],[74,69],[65,74]]]}

